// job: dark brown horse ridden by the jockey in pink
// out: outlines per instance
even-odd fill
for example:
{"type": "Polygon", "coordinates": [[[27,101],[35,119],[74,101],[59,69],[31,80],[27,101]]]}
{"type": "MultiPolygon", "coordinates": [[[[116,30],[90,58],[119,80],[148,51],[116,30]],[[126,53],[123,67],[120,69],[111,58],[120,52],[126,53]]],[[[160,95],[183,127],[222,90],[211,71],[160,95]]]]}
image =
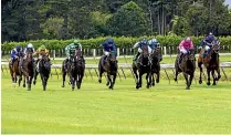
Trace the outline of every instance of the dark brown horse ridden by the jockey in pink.
{"type": "Polygon", "coordinates": [[[182,72],[185,79],[186,79],[186,90],[190,90],[191,81],[195,76],[195,69],[196,69],[196,59],[195,59],[195,50],[190,49],[187,51],[186,54],[182,55],[182,60],[179,63],[179,58],[176,59],[175,62],[175,81],[177,82],[177,76],[180,72],[182,72]],[[190,76],[188,79],[188,76],[190,76]]]}

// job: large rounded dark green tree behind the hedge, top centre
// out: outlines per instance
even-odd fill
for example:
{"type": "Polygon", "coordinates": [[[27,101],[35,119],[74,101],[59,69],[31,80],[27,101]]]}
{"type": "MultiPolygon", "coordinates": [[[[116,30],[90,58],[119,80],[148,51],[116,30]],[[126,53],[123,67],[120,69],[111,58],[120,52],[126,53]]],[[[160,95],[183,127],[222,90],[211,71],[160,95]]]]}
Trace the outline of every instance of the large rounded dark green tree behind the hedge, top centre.
{"type": "Polygon", "coordinates": [[[141,8],[130,1],[120,7],[111,19],[112,34],[139,37],[147,33],[147,18],[141,8]]]}

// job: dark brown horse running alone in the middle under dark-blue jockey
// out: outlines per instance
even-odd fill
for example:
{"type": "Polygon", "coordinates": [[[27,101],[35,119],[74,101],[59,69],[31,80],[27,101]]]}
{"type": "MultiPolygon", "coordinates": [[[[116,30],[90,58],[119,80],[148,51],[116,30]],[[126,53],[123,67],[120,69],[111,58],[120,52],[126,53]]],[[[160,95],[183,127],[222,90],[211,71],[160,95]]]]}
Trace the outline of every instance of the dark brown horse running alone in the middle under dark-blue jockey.
{"type": "Polygon", "coordinates": [[[104,62],[104,56],[101,58],[98,62],[98,82],[102,83],[102,75],[104,72],[107,73],[107,83],[106,85],[109,89],[114,89],[115,80],[117,76],[117,60],[116,60],[116,52],[109,52],[109,55],[106,58],[106,61],[104,62]]]}

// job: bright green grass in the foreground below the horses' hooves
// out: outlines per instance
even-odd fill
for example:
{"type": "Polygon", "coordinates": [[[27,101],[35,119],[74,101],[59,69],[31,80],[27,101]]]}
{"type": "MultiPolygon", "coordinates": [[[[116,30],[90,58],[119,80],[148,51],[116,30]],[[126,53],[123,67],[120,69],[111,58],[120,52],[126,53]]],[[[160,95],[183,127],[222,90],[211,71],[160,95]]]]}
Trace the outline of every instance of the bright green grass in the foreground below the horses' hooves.
{"type": "Polygon", "coordinates": [[[231,133],[230,82],[186,91],[160,80],[137,91],[127,79],[112,91],[88,77],[71,91],[53,76],[46,92],[41,81],[30,92],[10,82],[2,75],[2,133],[231,133]]]}

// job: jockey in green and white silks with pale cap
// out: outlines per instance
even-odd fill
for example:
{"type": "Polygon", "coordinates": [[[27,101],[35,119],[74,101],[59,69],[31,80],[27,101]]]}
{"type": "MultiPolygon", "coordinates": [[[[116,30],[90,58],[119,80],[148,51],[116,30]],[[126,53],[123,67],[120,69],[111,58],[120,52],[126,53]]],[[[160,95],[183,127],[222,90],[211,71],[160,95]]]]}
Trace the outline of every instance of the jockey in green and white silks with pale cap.
{"type": "MultiPolygon", "coordinates": [[[[67,56],[65,62],[64,62],[65,71],[67,71],[67,62],[70,61],[71,55],[75,55],[75,50],[81,50],[81,52],[82,52],[82,45],[81,45],[78,40],[74,40],[71,44],[69,44],[65,48],[65,53],[66,53],[66,56],[67,56]]],[[[81,55],[81,58],[83,59],[83,55],[81,55]]],[[[83,61],[85,62],[84,59],[83,59],[83,61]]]]}

